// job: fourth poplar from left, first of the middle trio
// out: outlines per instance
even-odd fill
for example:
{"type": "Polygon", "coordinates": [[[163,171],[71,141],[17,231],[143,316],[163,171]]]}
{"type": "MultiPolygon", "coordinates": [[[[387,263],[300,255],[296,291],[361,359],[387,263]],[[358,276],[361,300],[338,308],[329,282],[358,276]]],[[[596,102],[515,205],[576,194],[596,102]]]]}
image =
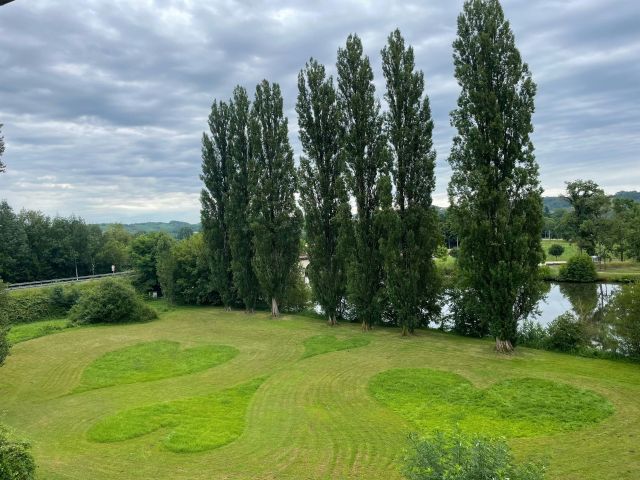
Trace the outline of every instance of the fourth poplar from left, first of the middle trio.
{"type": "Polygon", "coordinates": [[[311,59],[298,75],[300,202],[305,213],[308,275],[313,294],[330,325],[345,296],[346,258],[342,242],[351,211],[340,155],[340,110],[333,79],[311,59]]]}

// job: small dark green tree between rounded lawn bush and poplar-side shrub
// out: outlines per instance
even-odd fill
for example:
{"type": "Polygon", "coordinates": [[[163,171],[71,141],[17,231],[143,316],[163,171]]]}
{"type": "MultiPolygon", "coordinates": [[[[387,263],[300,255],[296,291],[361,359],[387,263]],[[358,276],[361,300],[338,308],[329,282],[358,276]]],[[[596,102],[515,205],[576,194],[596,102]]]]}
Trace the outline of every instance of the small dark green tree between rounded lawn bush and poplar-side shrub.
{"type": "Polygon", "coordinates": [[[131,266],[135,270],[133,285],[141,292],[159,291],[158,258],[169,250],[174,240],[166,233],[146,233],[131,242],[131,266]]]}

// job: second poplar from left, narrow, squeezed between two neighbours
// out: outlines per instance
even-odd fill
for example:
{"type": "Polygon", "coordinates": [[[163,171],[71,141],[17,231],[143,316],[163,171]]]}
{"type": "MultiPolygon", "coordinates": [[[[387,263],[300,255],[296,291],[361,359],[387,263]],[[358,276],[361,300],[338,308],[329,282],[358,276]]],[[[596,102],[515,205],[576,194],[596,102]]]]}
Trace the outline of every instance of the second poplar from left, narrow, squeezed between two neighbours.
{"type": "Polygon", "coordinates": [[[238,296],[247,312],[253,312],[260,286],[253,270],[253,232],[249,223],[249,97],[240,86],[233,90],[229,119],[230,172],[227,225],[231,244],[231,271],[238,296]]]}

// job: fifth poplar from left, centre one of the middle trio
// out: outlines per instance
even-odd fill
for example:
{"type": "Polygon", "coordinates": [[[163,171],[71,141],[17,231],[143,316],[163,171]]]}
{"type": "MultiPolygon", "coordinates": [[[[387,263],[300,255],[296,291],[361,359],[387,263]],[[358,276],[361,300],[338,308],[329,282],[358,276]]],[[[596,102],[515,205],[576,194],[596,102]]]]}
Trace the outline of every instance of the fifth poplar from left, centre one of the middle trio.
{"type": "Polygon", "coordinates": [[[375,216],[380,207],[378,182],[386,172],[386,140],[371,64],[363,55],[357,35],[349,35],[345,48],[338,50],[337,70],[341,146],[357,208],[347,287],[356,318],[363,330],[368,330],[380,319],[383,307],[380,235],[375,216]]]}

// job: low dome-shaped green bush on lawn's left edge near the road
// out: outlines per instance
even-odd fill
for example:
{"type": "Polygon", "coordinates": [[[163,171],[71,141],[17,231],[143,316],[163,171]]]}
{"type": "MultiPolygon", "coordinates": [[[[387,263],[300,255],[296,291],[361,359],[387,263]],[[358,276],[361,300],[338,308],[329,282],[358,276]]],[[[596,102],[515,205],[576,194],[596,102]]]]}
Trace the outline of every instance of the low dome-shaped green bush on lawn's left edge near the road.
{"type": "Polygon", "coordinates": [[[69,312],[75,324],[144,322],[157,316],[131,286],[113,279],[83,291],[69,312]]]}

